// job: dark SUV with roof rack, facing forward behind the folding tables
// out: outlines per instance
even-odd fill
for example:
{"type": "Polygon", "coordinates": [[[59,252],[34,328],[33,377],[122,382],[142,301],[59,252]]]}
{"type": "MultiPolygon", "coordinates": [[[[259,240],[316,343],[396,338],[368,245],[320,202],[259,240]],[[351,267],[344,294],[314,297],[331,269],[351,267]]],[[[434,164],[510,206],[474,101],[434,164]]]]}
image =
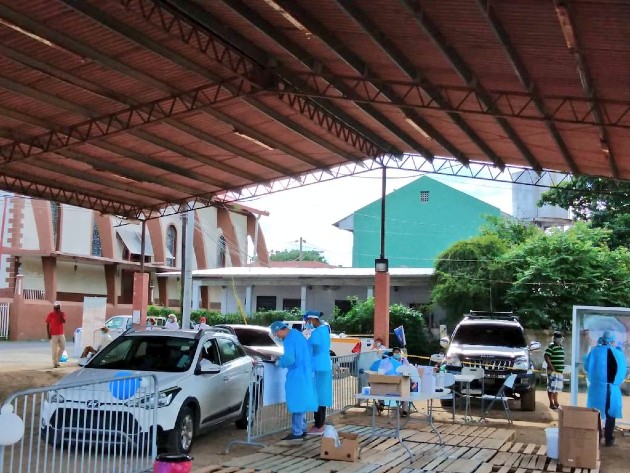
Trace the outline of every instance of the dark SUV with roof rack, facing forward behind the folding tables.
{"type": "Polygon", "coordinates": [[[512,313],[471,311],[455,327],[444,363],[451,372],[461,371],[462,366],[484,368],[487,394],[495,394],[507,376],[517,374],[514,389],[506,394],[520,399],[521,410],[533,411],[536,378],[529,355],[538,349],[539,342],[527,345],[525,331],[512,313]]]}

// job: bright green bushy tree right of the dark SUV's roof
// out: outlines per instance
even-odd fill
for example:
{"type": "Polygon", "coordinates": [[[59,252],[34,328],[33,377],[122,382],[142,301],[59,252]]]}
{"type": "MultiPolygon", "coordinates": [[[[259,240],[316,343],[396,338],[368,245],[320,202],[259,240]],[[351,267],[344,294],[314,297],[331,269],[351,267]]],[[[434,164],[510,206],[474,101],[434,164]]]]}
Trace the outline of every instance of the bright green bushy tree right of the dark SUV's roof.
{"type": "Polygon", "coordinates": [[[534,236],[497,259],[505,301],[527,327],[569,328],[574,305],[630,304],[630,253],[610,250],[609,234],[578,223],[534,236]]]}

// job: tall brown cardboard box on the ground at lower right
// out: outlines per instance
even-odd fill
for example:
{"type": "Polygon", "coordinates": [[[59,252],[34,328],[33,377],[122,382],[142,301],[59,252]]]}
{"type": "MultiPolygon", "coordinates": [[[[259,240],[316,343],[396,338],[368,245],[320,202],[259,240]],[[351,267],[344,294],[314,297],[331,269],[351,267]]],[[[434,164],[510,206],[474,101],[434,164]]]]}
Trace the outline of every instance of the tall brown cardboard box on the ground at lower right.
{"type": "Polygon", "coordinates": [[[601,420],[597,409],[560,406],[558,463],[571,468],[597,468],[601,420]]]}

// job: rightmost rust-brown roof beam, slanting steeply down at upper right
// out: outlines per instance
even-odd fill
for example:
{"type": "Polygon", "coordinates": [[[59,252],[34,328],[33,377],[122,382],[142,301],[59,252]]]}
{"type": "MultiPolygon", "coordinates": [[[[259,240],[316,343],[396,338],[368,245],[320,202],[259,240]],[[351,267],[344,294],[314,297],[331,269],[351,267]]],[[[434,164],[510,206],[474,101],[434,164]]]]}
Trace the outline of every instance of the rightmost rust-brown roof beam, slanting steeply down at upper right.
{"type": "Polygon", "coordinates": [[[588,65],[584,60],[582,48],[580,47],[579,37],[577,35],[575,22],[571,16],[569,2],[565,0],[554,0],[554,5],[556,7],[556,15],[558,16],[558,22],[560,23],[560,28],[562,29],[562,34],[564,35],[567,47],[575,59],[575,65],[580,78],[580,83],[582,84],[582,90],[591,104],[590,112],[593,115],[593,119],[595,120],[595,123],[597,123],[599,129],[599,140],[602,153],[604,154],[604,157],[608,159],[612,177],[614,179],[618,179],[619,168],[617,167],[615,153],[612,149],[610,138],[608,136],[608,130],[604,127],[604,118],[602,117],[601,108],[597,103],[595,86],[593,85],[588,65]]]}

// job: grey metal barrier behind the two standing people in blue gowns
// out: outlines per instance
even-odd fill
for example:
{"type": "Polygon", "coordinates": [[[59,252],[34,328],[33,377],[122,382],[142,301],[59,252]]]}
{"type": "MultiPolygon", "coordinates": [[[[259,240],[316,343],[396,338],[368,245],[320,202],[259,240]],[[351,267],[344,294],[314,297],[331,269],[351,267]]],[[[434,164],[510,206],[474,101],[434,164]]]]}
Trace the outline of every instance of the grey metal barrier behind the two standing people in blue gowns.
{"type": "MultiPolygon", "coordinates": [[[[354,395],[360,392],[361,386],[367,385],[367,375],[364,376],[362,372],[378,357],[376,351],[332,357],[333,406],[328,409],[328,414],[343,412],[357,404],[354,395]]],[[[267,389],[270,388],[267,386],[267,389]]],[[[284,390],[284,386],[275,388],[284,390]]],[[[226,453],[229,453],[232,445],[237,444],[264,446],[260,439],[291,428],[291,415],[287,411],[286,403],[265,406],[264,390],[264,364],[258,363],[249,384],[247,438],[230,442],[226,453]]],[[[311,422],[312,419],[313,413],[308,413],[307,422],[311,422]]]]}

